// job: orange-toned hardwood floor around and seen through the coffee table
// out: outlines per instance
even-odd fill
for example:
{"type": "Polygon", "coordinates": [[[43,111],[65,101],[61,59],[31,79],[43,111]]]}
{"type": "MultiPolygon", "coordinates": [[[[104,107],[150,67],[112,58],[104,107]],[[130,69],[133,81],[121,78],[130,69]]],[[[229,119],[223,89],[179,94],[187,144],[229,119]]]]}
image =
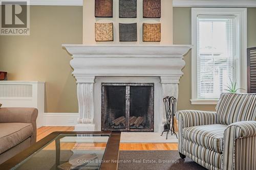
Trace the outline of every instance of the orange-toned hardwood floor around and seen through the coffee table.
{"type": "MultiPolygon", "coordinates": [[[[49,135],[52,132],[55,131],[73,131],[74,127],[41,127],[37,129],[37,138],[36,141],[44,138],[45,136],[49,135]]],[[[69,144],[63,144],[61,147],[65,148],[74,148],[74,147],[82,147],[86,148],[87,150],[90,149],[104,149],[105,144],[104,143],[90,143],[90,144],[83,144],[83,145],[77,145],[76,143],[69,143],[69,144]]],[[[53,149],[55,148],[55,144],[51,143],[47,148],[45,149],[53,149]]],[[[178,150],[178,143],[120,143],[120,151],[165,151],[165,150],[178,150]]]]}

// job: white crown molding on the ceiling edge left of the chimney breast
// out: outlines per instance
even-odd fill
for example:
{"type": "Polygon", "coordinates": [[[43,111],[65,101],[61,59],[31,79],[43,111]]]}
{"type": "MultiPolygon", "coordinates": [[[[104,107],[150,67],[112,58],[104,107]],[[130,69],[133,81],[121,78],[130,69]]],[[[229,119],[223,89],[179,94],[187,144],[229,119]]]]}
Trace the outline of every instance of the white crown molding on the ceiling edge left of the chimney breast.
{"type": "Polygon", "coordinates": [[[82,6],[83,0],[30,0],[30,5],[82,6]]]}

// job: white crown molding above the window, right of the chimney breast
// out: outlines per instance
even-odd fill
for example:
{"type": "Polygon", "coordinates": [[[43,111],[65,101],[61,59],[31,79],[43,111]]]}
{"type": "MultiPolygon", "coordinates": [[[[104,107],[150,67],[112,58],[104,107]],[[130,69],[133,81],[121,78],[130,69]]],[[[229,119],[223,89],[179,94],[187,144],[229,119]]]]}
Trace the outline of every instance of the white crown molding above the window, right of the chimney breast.
{"type": "Polygon", "coordinates": [[[255,0],[173,0],[173,7],[256,7],[255,0]]]}

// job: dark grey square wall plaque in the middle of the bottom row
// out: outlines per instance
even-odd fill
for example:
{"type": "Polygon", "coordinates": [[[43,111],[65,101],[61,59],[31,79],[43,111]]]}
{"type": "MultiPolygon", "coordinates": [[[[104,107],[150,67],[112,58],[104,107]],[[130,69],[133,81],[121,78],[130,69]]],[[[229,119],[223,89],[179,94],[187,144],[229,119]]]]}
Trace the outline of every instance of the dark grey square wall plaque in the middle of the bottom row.
{"type": "Polygon", "coordinates": [[[119,41],[137,41],[137,23],[119,23],[119,41]]]}

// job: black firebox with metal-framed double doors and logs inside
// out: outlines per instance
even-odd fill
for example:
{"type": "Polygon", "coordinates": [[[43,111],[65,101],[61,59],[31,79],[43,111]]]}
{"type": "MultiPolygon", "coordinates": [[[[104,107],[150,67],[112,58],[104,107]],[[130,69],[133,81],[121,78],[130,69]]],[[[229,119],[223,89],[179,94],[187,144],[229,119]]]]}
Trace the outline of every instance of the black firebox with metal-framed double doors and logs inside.
{"type": "Polygon", "coordinates": [[[154,131],[154,83],[102,83],[101,130],[154,131]]]}

